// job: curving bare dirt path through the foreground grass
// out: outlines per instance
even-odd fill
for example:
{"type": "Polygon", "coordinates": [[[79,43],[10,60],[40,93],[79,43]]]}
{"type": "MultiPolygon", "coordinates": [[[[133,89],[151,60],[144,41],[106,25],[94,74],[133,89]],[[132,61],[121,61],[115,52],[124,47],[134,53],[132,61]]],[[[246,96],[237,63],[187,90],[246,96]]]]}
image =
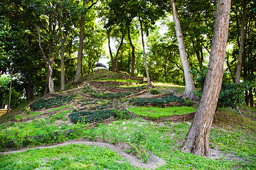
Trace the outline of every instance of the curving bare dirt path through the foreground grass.
{"type": "MultiPolygon", "coordinates": [[[[138,168],[144,168],[144,169],[156,169],[159,166],[163,166],[166,164],[166,161],[164,159],[161,159],[159,157],[156,157],[156,155],[150,153],[149,154],[149,163],[148,164],[143,164],[142,162],[139,161],[138,157],[135,157],[133,155],[127,154],[124,152],[124,148],[127,146],[125,144],[117,144],[117,145],[111,145],[109,143],[105,142],[89,142],[87,140],[69,140],[68,142],[64,142],[61,144],[57,145],[51,145],[48,147],[33,147],[30,149],[43,149],[43,148],[53,148],[53,147],[60,147],[60,146],[67,146],[70,144],[78,144],[78,145],[93,145],[97,147],[104,147],[104,148],[109,148],[110,150],[117,152],[120,157],[123,157],[126,159],[132,166],[136,166],[138,168]]],[[[18,152],[24,152],[28,148],[25,149],[20,149],[18,151],[10,151],[10,152],[3,152],[2,154],[13,154],[13,153],[18,153],[18,152]]]]}

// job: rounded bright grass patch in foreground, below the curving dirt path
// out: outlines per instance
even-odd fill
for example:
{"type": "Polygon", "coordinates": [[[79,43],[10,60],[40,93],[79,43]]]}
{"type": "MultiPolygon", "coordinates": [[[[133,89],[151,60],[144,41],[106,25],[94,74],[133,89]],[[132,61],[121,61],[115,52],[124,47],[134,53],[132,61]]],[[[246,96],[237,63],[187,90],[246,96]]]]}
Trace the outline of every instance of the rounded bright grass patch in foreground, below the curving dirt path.
{"type": "Polygon", "coordinates": [[[68,145],[0,155],[0,169],[136,169],[110,149],[68,145]]]}

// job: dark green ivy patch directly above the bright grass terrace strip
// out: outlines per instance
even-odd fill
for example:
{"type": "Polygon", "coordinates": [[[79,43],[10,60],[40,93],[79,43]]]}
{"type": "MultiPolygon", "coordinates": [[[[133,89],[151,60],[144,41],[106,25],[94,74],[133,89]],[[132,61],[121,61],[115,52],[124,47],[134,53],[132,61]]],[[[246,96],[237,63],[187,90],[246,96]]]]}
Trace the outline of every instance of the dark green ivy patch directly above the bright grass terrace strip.
{"type": "Polygon", "coordinates": [[[174,96],[171,94],[170,96],[161,97],[161,98],[142,98],[142,99],[131,99],[131,103],[137,106],[147,106],[148,103],[151,103],[152,106],[161,106],[164,107],[164,104],[171,103],[171,102],[180,102],[184,103],[185,100],[181,97],[174,96]]]}

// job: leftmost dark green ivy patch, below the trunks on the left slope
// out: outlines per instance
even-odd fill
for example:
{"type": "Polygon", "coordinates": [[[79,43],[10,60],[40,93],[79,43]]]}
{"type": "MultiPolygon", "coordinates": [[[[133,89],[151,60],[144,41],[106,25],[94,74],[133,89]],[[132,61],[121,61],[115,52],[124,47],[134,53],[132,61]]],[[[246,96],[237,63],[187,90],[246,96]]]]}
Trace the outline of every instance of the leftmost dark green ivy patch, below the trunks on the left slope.
{"type": "Polygon", "coordinates": [[[55,98],[48,98],[46,100],[41,99],[35,103],[31,104],[31,109],[36,111],[42,108],[51,108],[53,106],[63,106],[63,104],[70,102],[75,98],[75,95],[72,96],[56,96],[55,98]]]}

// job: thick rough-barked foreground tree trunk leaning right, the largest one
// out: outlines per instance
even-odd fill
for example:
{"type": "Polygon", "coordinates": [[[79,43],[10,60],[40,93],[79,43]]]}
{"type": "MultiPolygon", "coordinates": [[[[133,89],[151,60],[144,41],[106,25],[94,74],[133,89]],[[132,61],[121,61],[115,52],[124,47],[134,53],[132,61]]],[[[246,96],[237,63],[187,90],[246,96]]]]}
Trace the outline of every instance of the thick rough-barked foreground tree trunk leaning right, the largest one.
{"type": "Polygon", "coordinates": [[[203,87],[203,94],[191,128],[188,130],[183,146],[181,147],[182,152],[191,152],[206,157],[210,155],[210,128],[215,114],[218,96],[220,95],[224,72],[230,4],[231,0],[218,0],[210,61],[203,87]]]}

